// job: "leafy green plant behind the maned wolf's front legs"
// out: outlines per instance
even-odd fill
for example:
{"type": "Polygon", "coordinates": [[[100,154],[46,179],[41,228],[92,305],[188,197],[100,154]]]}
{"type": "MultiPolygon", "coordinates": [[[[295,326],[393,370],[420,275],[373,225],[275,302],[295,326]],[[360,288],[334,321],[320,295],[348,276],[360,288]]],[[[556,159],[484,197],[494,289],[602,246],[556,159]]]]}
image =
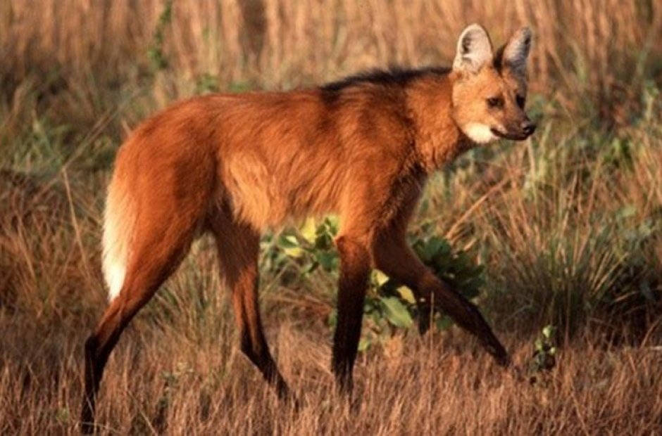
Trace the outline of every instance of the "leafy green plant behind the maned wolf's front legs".
{"type": "MultiPolygon", "coordinates": [[[[285,259],[289,258],[301,276],[321,269],[337,278],[339,257],[333,243],[337,231],[335,217],[326,217],[319,223],[308,219],[299,229],[283,231],[277,238],[277,250],[285,257],[273,253],[268,257],[270,265],[287,268],[285,259]]],[[[437,276],[461,290],[464,297],[477,297],[485,283],[484,269],[475,264],[467,252],[454,250],[448,241],[438,236],[411,236],[410,239],[413,250],[437,276]]],[[[284,277],[289,278],[287,274],[284,277]]],[[[420,314],[412,290],[381,271],[373,271],[370,276],[363,313],[366,322],[359,350],[385,343],[397,331],[411,329],[417,319],[419,323],[432,322],[439,330],[452,325],[451,319],[440,312],[435,312],[431,321],[428,314],[420,314]]],[[[329,319],[330,326],[335,326],[335,317],[334,311],[329,319]]]]}

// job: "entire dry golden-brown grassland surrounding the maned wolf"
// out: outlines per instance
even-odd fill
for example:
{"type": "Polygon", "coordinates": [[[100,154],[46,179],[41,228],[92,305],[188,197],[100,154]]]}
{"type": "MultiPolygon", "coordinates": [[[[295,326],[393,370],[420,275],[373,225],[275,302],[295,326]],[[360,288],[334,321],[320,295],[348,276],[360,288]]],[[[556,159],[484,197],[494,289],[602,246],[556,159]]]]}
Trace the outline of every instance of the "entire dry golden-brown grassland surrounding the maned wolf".
{"type": "MultiPolygon", "coordinates": [[[[662,428],[662,8],[656,1],[0,2],[0,433],[75,432],[82,342],[115,150],[143,117],[213,89],[289,89],[389,63],[447,63],[466,23],[535,34],[525,144],[477,150],[427,188],[411,231],[485,265],[479,299],[535,384],[451,330],[361,354],[361,401],[333,396],[332,276],[289,277],[265,243],[262,305],[304,399],[278,404],[237,347],[209,241],[125,333],[104,378],[108,433],[655,434],[662,428]],[[262,5],[262,6],[261,6],[262,5]]],[[[296,271],[291,265],[288,274],[296,271]]]]}

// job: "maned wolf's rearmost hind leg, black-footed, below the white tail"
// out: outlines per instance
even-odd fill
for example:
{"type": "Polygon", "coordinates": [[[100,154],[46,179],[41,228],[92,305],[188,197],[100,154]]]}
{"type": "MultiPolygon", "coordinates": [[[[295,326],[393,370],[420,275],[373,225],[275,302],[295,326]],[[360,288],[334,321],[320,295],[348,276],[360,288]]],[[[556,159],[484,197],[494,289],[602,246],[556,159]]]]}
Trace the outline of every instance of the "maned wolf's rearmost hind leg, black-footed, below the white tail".
{"type": "Polygon", "coordinates": [[[137,261],[129,265],[119,295],[113,299],[94,333],[85,342],[85,396],[81,412],[82,431],[85,433],[94,430],[99,383],[120,335],[186,255],[193,238],[194,224],[182,224],[182,216],[178,218],[154,220],[149,231],[137,236],[133,244],[137,261]]]}

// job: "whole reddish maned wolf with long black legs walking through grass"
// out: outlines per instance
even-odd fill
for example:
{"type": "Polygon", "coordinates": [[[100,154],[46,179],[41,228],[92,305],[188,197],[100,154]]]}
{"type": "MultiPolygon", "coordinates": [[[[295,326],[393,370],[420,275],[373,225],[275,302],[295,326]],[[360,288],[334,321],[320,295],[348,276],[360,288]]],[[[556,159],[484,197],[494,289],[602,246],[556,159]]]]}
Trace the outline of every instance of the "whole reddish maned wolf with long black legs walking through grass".
{"type": "Polygon", "coordinates": [[[339,390],[351,390],[373,267],[409,286],[421,313],[434,304],[507,365],[477,308],[416,258],[405,230],[429,174],[477,144],[534,132],[524,112],[530,45],[523,28],[494,54],[485,29],[470,25],[451,69],[201,96],[142,123],[119,149],[108,187],[103,245],[111,302],[85,343],[83,430],[93,429],[99,382],[120,334],[204,232],[216,237],[242,351],[289,398],[258,312],[258,247],[265,229],[311,215],[341,219],[332,359],[339,390]]]}

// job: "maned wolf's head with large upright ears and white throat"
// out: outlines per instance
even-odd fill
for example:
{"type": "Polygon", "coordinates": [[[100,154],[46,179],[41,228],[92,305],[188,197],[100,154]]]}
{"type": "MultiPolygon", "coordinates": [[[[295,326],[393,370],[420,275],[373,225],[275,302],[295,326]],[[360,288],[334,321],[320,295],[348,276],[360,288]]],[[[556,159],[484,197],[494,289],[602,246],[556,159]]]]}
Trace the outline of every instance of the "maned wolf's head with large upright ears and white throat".
{"type": "Polygon", "coordinates": [[[535,131],[535,123],[524,112],[530,47],[531,31],[527,27],[513,34],[496,56],[480,25],[470,25],[460,35],[453,63],[457,77],[453,86],[453,117],[472,141],[519,141],[535,131]]]}

